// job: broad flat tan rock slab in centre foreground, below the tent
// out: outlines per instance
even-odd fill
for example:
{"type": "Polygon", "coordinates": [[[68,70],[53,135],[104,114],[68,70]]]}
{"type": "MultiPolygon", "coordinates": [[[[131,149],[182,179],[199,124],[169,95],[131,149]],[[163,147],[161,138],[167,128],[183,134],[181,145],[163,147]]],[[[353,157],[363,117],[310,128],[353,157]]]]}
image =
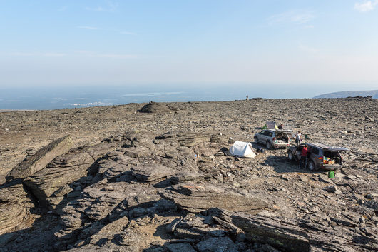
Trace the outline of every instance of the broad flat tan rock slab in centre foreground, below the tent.
{"type": "Polygon", "coordinates": [[[218,207],[229,211],[254,214],[270,208],[270,203],[261,198],[234,193],[225,188],[203,183],[180,183],[165,189],[162,196],[192,213],[200,213],[208,208],[218,207]]]}

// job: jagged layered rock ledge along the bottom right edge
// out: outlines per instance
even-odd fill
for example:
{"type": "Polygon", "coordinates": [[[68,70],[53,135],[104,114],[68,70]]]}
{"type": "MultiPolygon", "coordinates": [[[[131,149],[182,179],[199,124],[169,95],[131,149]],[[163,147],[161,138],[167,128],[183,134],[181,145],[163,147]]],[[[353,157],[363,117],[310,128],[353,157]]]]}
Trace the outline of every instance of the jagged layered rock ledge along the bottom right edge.
{"type": "Polygon", "coordinates": [[[271,216],[250,216],[222,209],[210,209],[210,216],[231,223],[244,231],[251,242],[268,243],[283,251],[375,251],[378,239],[354,233],[342,226],[324,226],[306,220],[289,220],[271,216]],[[363,245],[362,245],[363,244],[363,245]]]}

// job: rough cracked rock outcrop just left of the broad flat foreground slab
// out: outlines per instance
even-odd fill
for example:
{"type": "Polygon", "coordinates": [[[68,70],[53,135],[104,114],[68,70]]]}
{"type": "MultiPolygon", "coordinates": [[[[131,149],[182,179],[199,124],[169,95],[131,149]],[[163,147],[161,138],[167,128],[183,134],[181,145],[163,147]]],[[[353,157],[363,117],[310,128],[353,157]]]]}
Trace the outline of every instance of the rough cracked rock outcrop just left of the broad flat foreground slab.
{"type": "Polygon", "coordinates": [[[71,234],[81,229],[83,223],[103,221],[108,223],[118,215],[128,213],[133,208],[150,208],[160,200],[158,190],[145,183],[116,182],[106,179],[88,186],[81,196],[68,203],[61,214],[61,231],[57,237],[71,234]]]}

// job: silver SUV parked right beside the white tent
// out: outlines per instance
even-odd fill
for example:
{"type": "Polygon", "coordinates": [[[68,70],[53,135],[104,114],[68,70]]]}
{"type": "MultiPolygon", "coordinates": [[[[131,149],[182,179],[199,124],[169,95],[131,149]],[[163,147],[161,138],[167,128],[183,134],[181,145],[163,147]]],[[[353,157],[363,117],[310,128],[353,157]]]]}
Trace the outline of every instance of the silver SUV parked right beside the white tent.
{"type": "Polygon", "coordinates": [[[267,149],[287,147],[290,145],[292,130],[265,129],[255,133],[255,143],[265,144],[267,149]]]}

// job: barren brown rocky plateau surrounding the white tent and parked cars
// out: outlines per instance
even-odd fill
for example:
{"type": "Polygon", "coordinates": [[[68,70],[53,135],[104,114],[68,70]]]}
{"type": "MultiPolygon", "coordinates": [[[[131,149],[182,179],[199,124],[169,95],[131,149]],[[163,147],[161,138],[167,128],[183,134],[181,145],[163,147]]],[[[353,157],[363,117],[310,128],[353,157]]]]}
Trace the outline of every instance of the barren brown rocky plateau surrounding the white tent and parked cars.
{"type": "Polygon", "coordinates": [[[0,251],[377,251],[377,111],[356,97],[1,112],[0,251]],[[265,121],[349,148],[335,178],[286,149],[225,155],[265,121]]]}

